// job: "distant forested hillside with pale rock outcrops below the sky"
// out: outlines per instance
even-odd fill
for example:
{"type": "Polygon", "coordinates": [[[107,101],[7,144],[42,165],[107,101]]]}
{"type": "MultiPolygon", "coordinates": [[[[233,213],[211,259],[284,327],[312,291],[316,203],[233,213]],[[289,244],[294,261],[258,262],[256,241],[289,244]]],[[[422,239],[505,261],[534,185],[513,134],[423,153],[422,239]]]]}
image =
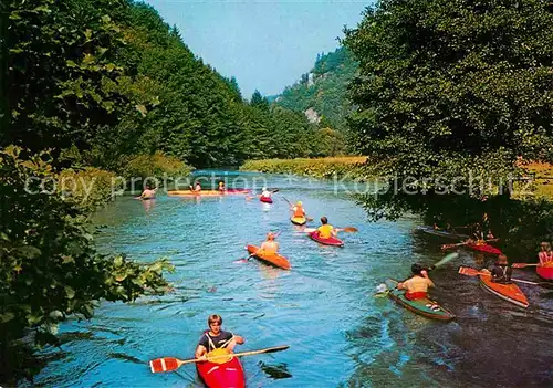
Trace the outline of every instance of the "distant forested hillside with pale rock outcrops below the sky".
{"type": "Polygon", "coordinates": [[[356,71],[357,64],[345,48],[317,55],[313,69],[302,74],[298,83],[288,86],[275,103],[292,111],[309,111],[307,115],[313,119],[322,120],[321,126],[344,130],[345,117],[351,109],[347,84],[356,71]]]}

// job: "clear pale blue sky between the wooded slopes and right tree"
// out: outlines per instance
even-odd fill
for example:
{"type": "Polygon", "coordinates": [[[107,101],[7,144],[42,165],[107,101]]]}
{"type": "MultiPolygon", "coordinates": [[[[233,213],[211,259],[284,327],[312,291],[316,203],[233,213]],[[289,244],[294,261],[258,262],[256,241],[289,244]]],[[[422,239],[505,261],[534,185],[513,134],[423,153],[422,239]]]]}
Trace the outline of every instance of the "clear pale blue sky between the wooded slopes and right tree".
{"type": "Polygon", "coordinates": [[[344,25],[355,28],[368,0],[146,0],[177,25],[196,56],[242,96],[280,94],[309,72],[317,53],[338,48],[344,25]]]}

